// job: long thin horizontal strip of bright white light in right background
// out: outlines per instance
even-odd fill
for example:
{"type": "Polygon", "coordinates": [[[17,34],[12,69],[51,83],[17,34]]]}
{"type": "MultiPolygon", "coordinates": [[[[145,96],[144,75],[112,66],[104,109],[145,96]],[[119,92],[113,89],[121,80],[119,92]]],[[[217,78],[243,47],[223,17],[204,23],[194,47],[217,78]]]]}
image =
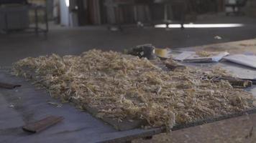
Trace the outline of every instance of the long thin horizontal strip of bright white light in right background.
{"type": "MultiPolygon", "coordinates": [[[[200,28],[230,28],[240,27],[244,24],[184,24],[185,28],[200,29],[200,28]]],[[[181,24],[169,24],[169,28],[181,28],[181,24]]],[[[157,24],[155,28],[166,28],[166,24],[157,24]]]]}

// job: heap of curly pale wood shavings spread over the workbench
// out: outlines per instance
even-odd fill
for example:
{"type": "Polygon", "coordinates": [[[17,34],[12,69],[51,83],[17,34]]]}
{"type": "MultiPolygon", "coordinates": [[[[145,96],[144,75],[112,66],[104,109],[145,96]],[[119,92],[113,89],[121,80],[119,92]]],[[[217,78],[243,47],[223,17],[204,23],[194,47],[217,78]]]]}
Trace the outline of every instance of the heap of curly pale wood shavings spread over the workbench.
{"type": "Polygon", "coordinates": [[[186,124],[253,107],[250,93],[228,82],[201,80],[220,69],[164,71],[147,59],[91,50],[80,56],[40,56],[14,64],[15,75],[43,85],[52,97],[99,109],[96,117],[147,121],[149,127],[186,124]],[[28,70],[29,69],[29,70],[28,70]]]}

